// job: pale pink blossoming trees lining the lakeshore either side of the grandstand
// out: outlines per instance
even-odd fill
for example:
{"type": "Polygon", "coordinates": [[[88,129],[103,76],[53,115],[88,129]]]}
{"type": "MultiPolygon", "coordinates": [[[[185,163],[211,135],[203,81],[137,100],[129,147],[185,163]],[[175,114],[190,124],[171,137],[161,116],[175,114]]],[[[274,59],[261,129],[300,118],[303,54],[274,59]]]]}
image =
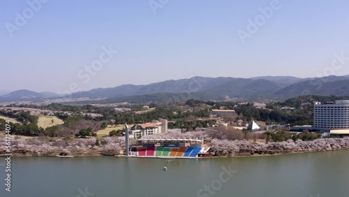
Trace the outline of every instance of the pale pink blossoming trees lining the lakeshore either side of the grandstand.
{"type": "MultiPolygon", "coordinates": [[[[349,138],[322,138],[311,141],[287,140],[283,142],[250,142],[247,140],[209,140],[211,156],[265,156],[274,154],[294,154],[301,152],[322,152],[348,149],[349,138]]],[[[6,154],[5,142],[0,140],[0,156],[6,154]]],[[[38,138],[15,139],[11,141],[13,156],[114,156],[125,149],[123,138],[107,137],[96,145],[95,139],[65,141],[61,138],[43,141],[38,138]]]]}

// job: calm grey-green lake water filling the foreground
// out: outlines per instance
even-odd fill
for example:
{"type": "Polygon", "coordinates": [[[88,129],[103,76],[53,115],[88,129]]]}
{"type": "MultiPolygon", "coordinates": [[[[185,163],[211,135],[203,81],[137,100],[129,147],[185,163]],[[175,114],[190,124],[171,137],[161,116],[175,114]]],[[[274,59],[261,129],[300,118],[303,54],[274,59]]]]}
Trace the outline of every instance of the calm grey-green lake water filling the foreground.
{"type": "Polygon", "coordinates": [[[177,159],[167,171],[165,159],[17,157],[11,161],[11,192],[0,166],[0,196],[349,196],[348,156],[349,150],[338,150],[177,159]]]}

